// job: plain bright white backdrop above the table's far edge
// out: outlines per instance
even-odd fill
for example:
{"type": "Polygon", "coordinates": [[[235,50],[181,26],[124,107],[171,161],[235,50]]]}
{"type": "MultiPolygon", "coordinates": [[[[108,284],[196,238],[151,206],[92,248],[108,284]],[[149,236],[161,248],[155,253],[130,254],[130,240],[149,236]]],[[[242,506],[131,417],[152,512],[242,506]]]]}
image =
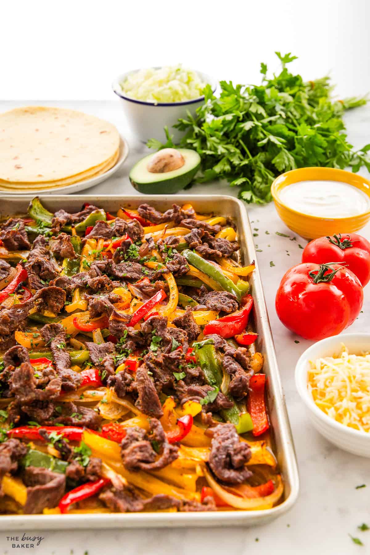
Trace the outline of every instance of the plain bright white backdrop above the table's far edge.
{"type": "Polygon", "coordinates": [[[305,79],[331,72],[339,96],[370,90],[367,0],[8,0],[1,99],[109,99],[129,69],[183,62],[218,79],[260,80],[273,52],[305,79]]]}

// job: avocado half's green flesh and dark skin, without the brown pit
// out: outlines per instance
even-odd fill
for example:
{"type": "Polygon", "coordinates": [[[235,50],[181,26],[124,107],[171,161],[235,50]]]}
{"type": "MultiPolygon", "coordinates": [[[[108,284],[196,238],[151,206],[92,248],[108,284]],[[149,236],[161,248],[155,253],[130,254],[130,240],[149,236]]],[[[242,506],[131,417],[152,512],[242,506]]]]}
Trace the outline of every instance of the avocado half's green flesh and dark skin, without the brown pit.
{"type": "MultiPolygon", "coordinates": [[[[200,156],[195,150],[187,148],[176,149],[184,158],[185,163],[181,168],[152,173],[148,164],[158,153],[148,154],[141,158],[130,171],[131,184],[144,194],[163,195],[177,193],[189,185],[190,181],[200,168],[200,156]]],[[[160,152],[160,151],[159,151],[160,152]]]]}

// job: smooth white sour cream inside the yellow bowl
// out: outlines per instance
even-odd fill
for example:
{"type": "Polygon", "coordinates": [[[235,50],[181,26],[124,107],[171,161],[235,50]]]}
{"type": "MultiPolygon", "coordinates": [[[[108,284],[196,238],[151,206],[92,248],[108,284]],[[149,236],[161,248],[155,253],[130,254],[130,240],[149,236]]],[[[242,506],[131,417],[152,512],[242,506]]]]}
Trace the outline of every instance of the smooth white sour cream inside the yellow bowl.
{"type": "Polygon", "coordinates": [[[370,210],[370,199],[342,181],[297,181],[280,190],[283,204],[319,218],[350,218],[370,210]]]}

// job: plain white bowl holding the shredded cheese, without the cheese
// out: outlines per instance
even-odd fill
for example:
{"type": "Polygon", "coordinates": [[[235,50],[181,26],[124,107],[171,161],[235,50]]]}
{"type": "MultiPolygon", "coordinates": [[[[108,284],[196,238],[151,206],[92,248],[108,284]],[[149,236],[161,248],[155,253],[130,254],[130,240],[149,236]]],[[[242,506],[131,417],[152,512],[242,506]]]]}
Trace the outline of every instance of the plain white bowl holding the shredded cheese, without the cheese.
{"type": "Polygon", "coordinates": [[[337,447],[344,449],[344,451],[362,457],[370,457],[370,433],[354,430],[354,428],[344,426],[327,416],[315,404],[310,391],[307,389],[307,372],[310,370],[310,361],[339,354],[342,343],[346,345],[349,354],[360,355],[364,351],[370,351],[370,334],[336,335],[322,339],[308,347],[297,362],[296,387],[306,405],[313,426],[321,435],[337,447]]]}

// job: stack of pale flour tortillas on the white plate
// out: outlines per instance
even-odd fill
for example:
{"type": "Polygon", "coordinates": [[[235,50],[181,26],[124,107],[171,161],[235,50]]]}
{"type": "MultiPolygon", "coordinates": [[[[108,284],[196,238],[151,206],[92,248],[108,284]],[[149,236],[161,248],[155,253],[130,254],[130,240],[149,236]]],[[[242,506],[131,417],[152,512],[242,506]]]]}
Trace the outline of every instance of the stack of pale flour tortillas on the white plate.
{"type": "Polygon", "coordinates": [[[0,191],[47,190],[93,178],[119,157],[114,125],[64,108],[0,114],[0,191]]]}

